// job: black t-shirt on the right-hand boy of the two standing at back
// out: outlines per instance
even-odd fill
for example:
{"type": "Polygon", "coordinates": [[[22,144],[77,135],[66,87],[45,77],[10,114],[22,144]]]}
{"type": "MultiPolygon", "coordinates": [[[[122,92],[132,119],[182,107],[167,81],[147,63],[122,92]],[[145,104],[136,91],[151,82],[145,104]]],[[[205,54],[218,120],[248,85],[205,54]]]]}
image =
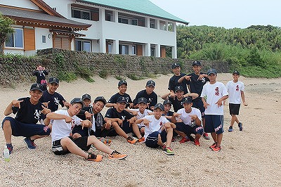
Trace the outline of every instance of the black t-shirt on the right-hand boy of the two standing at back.
{"type": "MultiPolygon", "coordinates": [[[[200,75],[202,75],[204,73],[200,72],[200,75]]],[[[190,93],[198,93],[199,97],[196,99],[201,99],[201,93],[202,93],[202,89],[204,84],[206,84],[206,82],[209,82],[209,78],[208,77],[203,77],[202,80],[198,79],[199,75],[196,75],[194,72],[188,74],[188,76],[191,76],[190,79],[191,81],[187,81],[187,84],[190,86],[190,93]]]]}

